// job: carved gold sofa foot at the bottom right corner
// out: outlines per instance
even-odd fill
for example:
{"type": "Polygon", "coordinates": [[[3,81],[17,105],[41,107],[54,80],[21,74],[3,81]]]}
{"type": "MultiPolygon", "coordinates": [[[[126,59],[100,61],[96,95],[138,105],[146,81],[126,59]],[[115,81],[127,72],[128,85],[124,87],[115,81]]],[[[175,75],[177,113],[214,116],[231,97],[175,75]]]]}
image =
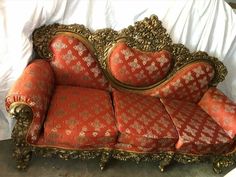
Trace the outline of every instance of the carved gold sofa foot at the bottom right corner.
{"type": "Polygon", "coordinates": [[[236,164],[236,161],[232,157],[217,157],[213,161],[213,170],[215,173],[222,173],[224,168],[230,167],[236,164]]]}

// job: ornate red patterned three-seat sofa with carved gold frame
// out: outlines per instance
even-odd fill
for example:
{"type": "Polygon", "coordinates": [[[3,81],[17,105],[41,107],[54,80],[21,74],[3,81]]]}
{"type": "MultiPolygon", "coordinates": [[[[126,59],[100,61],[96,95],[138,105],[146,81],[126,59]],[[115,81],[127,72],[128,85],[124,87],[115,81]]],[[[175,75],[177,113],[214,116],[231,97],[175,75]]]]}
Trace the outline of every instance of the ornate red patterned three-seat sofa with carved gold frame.
{"type": "Polygon", "coordinates": [[[156,16],[121,31],[52,24],[6,97],[16,119],[17,168],[32,154],[173,163],[235,164],[236,104],[216,85],[227,70],[173,44],[156,16]]]}

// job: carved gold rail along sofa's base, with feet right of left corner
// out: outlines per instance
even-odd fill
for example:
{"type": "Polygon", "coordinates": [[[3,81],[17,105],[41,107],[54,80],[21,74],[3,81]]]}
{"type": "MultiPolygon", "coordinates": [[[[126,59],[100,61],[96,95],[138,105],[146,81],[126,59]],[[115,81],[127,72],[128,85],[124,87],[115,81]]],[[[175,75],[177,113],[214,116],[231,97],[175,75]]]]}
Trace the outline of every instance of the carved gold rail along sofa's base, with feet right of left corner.
{"type": "Polygon", "coordinates": [[[141,161],[146,162],[159,162],[159,169],[163,172],[165,168],[173,163],[182,163],[189,165],[191,163],[212,162],[213,170],[215,173],[221,173],[223,170],[236,164],[236,153],[222,154],[222,155],[197,155],[175,152],[157,152],[157,153],[142,153],[130,152],[118,149],[91,149],[91,150],[67,150],[61,148],[46,148],[31,146],[31,151],[37,156],[43,157],[59,157],[65,160],[69,159],[82,159],[89,160],[97,157],[100,159],[100,168],[104,169],[109,158],[114,158],[121,161],[132,160],[137,164],[141,161]]]}

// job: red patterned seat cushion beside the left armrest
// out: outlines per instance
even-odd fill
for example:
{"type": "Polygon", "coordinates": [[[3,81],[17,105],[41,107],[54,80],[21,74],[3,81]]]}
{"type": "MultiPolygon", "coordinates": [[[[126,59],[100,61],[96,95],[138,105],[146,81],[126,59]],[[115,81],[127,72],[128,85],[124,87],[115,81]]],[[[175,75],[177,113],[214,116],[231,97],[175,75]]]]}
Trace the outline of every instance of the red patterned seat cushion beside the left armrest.
{"type": "Polygon", "coordinates": [[[57,86],[44,123],[43,138],[49,146],[71,149],[114,144],[117,128],[109,93],[57,86]]]}

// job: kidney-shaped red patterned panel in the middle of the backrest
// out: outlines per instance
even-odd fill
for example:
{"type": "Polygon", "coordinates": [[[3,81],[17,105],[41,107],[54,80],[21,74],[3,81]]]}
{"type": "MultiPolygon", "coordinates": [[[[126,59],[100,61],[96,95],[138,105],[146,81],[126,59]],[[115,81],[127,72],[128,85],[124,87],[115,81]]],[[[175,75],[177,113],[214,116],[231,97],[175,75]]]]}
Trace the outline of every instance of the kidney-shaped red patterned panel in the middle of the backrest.
{"type": "Polygon", "coordinates": [[[163,79],[171,67],[171,54],[141,52],[118,42],[108,58],[109,70],[118,81],[132,86],[148,86],[163,79]]]}

